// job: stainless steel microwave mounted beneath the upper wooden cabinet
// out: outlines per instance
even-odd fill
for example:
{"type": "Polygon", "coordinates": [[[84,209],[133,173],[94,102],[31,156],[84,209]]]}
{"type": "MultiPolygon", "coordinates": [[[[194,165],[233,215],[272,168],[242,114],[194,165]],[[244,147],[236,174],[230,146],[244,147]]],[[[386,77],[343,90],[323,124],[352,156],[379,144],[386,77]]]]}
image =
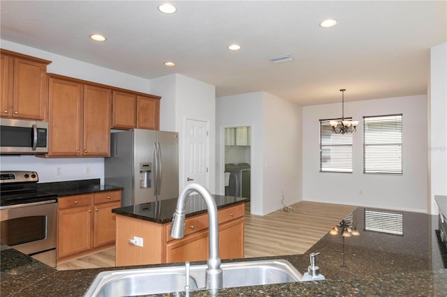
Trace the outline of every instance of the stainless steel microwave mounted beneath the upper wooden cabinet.
{"type": "Polygon", "coordinates": [[[48,123],[0,119],[0,154],[22,155],[48,152],[48,123]]]}

